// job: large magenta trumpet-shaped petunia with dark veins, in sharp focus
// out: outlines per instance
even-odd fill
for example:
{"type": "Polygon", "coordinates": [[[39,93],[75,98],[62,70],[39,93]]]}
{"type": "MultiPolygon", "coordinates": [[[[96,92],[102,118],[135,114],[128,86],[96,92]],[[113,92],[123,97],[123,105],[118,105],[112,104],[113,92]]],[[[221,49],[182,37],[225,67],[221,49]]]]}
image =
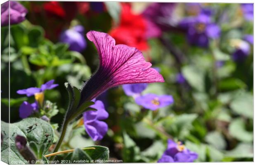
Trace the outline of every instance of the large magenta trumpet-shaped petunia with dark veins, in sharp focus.
{"type": "Polygon", "coordinates": [[[81,91],[80,105],[96,98],[100,93],[123,84],[164,82],[159,72],[151,68],[141,51],[115,40],[106,33],[90,31],[87,37],[99,53],[100,66],[81,91]]]}

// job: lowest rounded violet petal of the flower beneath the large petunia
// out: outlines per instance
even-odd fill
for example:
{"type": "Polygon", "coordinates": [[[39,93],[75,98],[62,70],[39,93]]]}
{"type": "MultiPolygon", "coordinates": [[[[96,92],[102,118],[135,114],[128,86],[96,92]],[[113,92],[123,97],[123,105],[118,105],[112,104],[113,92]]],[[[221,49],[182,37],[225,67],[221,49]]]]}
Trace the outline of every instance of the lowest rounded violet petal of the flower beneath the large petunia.
{"type": "Polygon", "coordinates": [[[108,125],[103,121],[96,120],[91,123],[85,124],[85,130],[92,138],[92,140],[101,140],[107,133],[108,125]]]}

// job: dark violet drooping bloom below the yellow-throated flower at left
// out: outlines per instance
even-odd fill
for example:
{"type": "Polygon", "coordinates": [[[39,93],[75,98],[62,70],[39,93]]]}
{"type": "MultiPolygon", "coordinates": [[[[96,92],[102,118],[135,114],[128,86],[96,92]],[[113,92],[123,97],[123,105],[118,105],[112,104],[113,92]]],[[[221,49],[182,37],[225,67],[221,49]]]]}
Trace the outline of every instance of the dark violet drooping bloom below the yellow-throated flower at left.
{"type": "Polygon", "coordinates": [[[33,112],[38,111],[38,103],[34,102],[30,104],[29,102],[24,101],[21,106],[19,107],[19,117],[21,119],[27,118],[33,112]]]}

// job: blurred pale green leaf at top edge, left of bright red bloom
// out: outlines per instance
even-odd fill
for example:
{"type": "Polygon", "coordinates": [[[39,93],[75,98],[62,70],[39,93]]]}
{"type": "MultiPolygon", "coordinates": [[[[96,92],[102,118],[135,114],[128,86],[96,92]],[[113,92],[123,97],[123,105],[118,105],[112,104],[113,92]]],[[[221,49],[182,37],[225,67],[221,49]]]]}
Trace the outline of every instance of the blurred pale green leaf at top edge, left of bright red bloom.
{"type": "Polygon", "coordinates": [[[114,19],[116,25],[119,24],[120,14],[121,14],[121,5],[119,2],[104,2],[109,15],[114,19]]]}

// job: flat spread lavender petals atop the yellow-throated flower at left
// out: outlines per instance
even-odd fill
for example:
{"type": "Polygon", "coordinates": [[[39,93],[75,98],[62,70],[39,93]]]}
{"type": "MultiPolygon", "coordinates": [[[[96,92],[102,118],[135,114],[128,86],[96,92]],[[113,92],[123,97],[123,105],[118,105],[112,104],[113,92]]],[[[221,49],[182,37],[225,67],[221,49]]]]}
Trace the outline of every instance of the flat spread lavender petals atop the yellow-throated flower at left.
{"type": "Polygon", "coordinates": [[[43,84],[41,86],[41,88],[31,87],[31,88],[27,88],[27,89],[21,89],[21,90],[17,91],[17,93],[20,95],[27,95],[29,97],[29,96],[35,95],[36,93],[40,93],[47,89],[52,89],[52,88],[59,86],[59,84],[53,84],[53,83],[54,83],[54,80],[50,80],[50,81],[46,82],[45,84],[43,84]]]}

